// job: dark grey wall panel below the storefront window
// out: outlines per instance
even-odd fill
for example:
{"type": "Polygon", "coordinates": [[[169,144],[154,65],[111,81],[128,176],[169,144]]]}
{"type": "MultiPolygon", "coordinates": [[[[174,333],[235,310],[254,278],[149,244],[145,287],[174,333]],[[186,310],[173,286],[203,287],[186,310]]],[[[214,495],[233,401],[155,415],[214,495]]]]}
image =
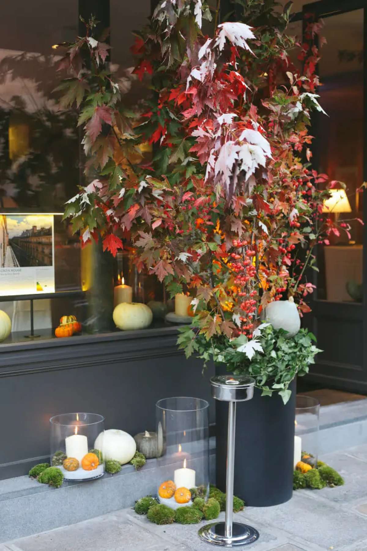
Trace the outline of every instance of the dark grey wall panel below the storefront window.
{"type": "MultiPolygon", "coordinates": [[[[0,478],[48,455],[52,415],[100,413],[105,428],[134,435],[154,430],[160,398],[211,400],[211,372],[186,360],[176,338],[176,328],[162,328],[0,345],[0,478]]],[[[213,406],[210,414],[213,422],[213,406]]]]}

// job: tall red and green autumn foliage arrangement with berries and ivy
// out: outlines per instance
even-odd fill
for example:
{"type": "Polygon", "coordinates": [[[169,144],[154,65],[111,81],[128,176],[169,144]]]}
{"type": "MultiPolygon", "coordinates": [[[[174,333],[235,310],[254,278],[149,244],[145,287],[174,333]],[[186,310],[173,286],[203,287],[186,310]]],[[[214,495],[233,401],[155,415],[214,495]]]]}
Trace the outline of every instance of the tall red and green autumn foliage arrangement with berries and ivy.
{"type": "MultiPolygon", "coordinates": [[[[188,356],[247,372],[257,360],[258,386],[286,401],[317,349],[305,330],[287,344],[282,331],[259,329],[261,310],[288,297],[309,310],[314,247],[340,231],[322,206],[328,189],[343,184],[310,166],[310,116],[323,112],[315,93],[320,22],[307,20],[299,44],[287,35],[288,6],[234,4],[238,21],[220,23],[219,2],[215,10],[205,0],[158,3],[132,47],[133,73],[151,90],[133,112],[109,72],[108,46],[93,36],[95,21],[86,23],[61,62],[71,76],[59,89],[62,106],[80,113],[90,183],[65,217],[83,245],[101,236],[115,255],[128,238],[139,270],[172,296],[190,291],[193,322],[179,337],[188,356]],[[152,158],[133,164],[131,153],[146,142],[152,158]],[[291,373],[292,346],[296,359],[304,355],[291,373]],[[275,365],[270,386],[261,358],[275,365]]],[[[340,226],[349,232],[348,222],[340,226]]]]}

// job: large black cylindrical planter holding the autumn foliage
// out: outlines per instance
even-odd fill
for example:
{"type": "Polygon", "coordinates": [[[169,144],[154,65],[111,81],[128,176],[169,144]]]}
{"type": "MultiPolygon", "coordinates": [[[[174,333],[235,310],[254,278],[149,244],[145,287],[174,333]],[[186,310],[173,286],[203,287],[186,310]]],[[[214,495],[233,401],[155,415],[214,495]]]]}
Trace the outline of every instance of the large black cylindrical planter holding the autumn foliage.
{"type": "MultiPolygon", "coordinates": [[[[237,404],[234,494],[248,506],[288,501],[293,491],[295,380],[286,406],[282,398],[261,396],[237,404]]],[[[226,491],[228,407],[216,400],[216,484],[226,491]]]]}

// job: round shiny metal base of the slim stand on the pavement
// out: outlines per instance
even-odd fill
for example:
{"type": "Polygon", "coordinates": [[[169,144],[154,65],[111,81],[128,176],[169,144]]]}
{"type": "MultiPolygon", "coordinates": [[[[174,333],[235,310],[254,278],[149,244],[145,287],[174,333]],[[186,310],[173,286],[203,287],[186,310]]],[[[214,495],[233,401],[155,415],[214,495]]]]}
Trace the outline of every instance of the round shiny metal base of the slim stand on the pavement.
{"type": "Polygon", "coordinates": [[[224,536],[224,522],[213,522],[200,528],[199,537],[204,542],[218,545],[218,547],[240,547],[256,542],[259,532],[251,526],[233,522],[232,538],[227,538],[224,536]]]}

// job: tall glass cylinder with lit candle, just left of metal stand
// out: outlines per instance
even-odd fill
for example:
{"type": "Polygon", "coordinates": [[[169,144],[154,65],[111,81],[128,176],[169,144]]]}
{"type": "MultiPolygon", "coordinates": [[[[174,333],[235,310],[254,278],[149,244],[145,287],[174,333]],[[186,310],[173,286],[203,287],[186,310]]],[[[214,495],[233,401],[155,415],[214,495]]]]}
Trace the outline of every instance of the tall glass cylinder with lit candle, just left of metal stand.
{"type": "Polygon", "coordinates": [[[209,403],[200,398],[164,398],[156,404],[157,494],[160,503],[190,506],[209,491],[209,403]]]}

